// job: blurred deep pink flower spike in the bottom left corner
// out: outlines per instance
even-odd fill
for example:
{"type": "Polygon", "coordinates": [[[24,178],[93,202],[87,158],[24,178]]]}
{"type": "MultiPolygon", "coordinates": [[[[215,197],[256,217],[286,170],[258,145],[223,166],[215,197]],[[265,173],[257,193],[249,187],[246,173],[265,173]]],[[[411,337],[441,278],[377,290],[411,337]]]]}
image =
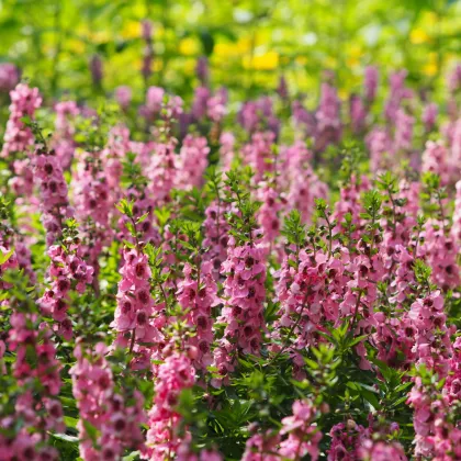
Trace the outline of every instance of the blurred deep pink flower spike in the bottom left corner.
{"type": "Polygon", "coordinates": [[[7,342],[9,351],[15,353],[12,376],[19,389],[16,395],[11,395],[13,402],[0,404],[0,457],[57,460],[58,452],[49,445],[48,434],[63,432],[65,425],[58,398],[61,364],[52,333],[34,310],[18,301],[10,325],[7,342]]]}

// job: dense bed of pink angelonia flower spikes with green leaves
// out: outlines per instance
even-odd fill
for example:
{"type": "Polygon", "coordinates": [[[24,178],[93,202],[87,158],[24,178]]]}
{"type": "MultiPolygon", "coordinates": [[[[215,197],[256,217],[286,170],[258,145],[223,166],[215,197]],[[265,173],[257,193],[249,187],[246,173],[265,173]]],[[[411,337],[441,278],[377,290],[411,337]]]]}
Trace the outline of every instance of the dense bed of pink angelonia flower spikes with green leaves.
{"type": "Polygon", "coordinates": [[[184,102],[143,40],[143,101],[11,72],[0,460],[461,460],[461,66],[184,102]]]}

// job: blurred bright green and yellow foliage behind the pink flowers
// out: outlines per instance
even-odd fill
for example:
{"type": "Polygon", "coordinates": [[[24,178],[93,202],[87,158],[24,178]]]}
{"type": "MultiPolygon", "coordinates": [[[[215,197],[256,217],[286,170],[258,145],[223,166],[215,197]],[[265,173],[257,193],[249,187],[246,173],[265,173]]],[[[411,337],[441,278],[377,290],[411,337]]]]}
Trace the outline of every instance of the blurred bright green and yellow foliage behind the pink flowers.
{"type": "Polygon", "coordinates": [[[48,99],[130,85],[138,98],[162,86],[188,100],[200,57],[211,85],[237,98],[273,91],[281,76],[316,94],[324,69],[346,98],[369,64],[406,68],[431,90],[460,49],[457,0],[0,0],[0,63],[48,99]]]}

